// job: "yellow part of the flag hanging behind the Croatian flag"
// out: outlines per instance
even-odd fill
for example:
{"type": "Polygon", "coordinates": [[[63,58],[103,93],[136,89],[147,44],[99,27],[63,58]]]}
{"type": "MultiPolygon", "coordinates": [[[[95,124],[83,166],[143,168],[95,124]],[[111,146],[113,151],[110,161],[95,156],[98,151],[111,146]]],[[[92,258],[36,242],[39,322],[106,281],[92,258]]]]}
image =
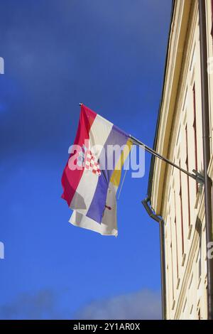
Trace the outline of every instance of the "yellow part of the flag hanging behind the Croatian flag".
{"type": "Polygon", "coordinates": [[[131,151],[131,146],[132,146],[132,141],[131,139],[128,139],[126,145],[124,146],[124,150],[121,152],[119,161],[116,163],[114,172],[111,174],[110,182],[116,187],[119,187],[119,183],[121,181],[121,169],[124,166],[126,158],[129,156],[129,153],[131,151]]]}

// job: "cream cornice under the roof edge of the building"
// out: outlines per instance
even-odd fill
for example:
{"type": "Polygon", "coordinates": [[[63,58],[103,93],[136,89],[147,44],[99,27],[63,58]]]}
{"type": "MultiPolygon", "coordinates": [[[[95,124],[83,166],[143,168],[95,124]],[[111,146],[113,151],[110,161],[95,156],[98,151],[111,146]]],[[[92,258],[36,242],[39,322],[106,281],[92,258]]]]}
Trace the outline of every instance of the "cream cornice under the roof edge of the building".
{"type": "MultiPolygon", "coordinates": [[[[172,126],[172,115],[175,109],[175,97],[178,92],[178,82],[182,65],[187,21],[190,13],[191,0],[176,1],[170,43],[168,50],[168,65],[165,74],[165,87],[163,89],[163,102],[160,110],[160,122],[158,128],[158,140],[156,151],[167,156],[170,130],[172,126]]],[[[155,212],[160,215],[163,185],[165,176],[165,163],[155,159],[153,171],[153,188],[151,202],[155,212]]]]}

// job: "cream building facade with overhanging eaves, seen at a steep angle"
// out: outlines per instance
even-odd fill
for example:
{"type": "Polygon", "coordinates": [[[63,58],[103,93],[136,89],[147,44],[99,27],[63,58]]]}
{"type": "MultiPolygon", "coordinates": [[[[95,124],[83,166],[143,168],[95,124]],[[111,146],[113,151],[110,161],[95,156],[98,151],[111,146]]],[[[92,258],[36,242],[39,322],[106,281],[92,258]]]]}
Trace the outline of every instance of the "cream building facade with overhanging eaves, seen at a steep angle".
{"type": "MultiPolygon", "coordinates": [[[[210,161],[213,180],[213,1],[205,3],[210,161]]],[[[154,149],[186,171],[204,173],[200,5],[175,0],[154,149]]],[[[165,318],[207,319],[204,185],[153,158],[148,195],[163,217],[165,318]]]]}

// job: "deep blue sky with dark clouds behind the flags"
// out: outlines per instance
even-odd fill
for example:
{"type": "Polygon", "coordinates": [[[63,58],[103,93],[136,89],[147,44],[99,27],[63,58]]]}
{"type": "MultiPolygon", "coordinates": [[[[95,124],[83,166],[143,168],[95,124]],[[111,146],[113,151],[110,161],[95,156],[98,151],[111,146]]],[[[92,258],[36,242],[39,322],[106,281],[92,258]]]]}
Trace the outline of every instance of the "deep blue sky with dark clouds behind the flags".
{"type": "Polygon", "coordinates": [[[79,102],[153,145],[170,9],[170,0],[1,1],[0,318],[160,316],[158,224],[141,205],[148,153],[145,176],[126,176],[117,238],[68,223],[60,178],[79,102]]]}

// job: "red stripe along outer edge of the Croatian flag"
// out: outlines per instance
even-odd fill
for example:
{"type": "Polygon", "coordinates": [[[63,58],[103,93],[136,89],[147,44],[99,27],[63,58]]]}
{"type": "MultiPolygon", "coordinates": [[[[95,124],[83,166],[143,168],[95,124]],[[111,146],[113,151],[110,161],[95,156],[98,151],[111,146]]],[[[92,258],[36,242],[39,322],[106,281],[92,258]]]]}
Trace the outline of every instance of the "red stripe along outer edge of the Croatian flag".
{"type": "MultiPolygon", "coordinates": [[[[85,107],[83,104],[81,106],[81,112],[80,112],[80,121],[77,127],[77,134],[75,136],[75,145],[82,145],[84,144],[84,141],[89,139],[89,130],[92,126],[92,123],[94,122],[94,119],[96,117],[96,113],[93,112],[91,109],[85,107]]],[[[70,157],[74,153],[70,154],[70,157]]],[[[69,159],[70,159],[69,157],[69,159]]],[[[68,161],[69,161],[68,159],[68,161]]],[[[84,172],[84,168],[81,170],[75,169],[74,171],[71,171],[71,169],[68,166],[68,161],[65,166],[65,170],[62,173],[62,198],[67,201],[67,204],[70,206],[70,203],[72,201],[72,198],[75,194],[75,191],[77,189],[77,186],[80,183],[80,179],[82,178],[82,173],[84,172]]]]}

